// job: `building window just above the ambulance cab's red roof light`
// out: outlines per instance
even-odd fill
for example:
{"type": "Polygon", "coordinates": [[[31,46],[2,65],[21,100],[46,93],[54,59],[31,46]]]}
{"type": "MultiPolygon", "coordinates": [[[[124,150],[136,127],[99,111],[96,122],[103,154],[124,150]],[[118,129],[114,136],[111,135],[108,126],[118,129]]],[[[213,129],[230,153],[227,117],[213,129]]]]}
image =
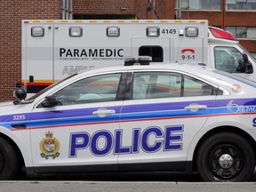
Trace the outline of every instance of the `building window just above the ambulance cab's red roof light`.
{"type": "Polygon", "coordinates": [[[226,27],[226,30],[237,38],[256,38],[256,28],[251,27],[226,27]]]}

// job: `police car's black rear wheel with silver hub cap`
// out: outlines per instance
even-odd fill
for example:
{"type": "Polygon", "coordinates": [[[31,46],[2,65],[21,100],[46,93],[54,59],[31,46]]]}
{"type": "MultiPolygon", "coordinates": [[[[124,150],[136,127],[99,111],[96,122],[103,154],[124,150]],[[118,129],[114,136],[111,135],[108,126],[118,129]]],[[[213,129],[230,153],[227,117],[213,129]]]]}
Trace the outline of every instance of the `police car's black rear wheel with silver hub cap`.
{"type": "Polygon", "coordinates": [[[243,137],[221,132],[204,141],[196,158],[199,174],[206,181],[244,181],[252,177],[255,155],[243,137]]]}

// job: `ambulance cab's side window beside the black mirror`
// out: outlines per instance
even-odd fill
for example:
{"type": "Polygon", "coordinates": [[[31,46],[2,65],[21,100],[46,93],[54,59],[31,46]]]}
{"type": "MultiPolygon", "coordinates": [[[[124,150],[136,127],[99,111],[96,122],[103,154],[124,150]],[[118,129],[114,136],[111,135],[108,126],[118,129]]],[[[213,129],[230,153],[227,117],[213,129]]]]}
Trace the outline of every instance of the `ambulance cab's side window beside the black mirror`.
{"type": "Polygon", "coordinates": [[[215,67],[229,73],[240,73],[239,60],[243,59],[241,52],[234,47],[214,48],[215,67]]]}

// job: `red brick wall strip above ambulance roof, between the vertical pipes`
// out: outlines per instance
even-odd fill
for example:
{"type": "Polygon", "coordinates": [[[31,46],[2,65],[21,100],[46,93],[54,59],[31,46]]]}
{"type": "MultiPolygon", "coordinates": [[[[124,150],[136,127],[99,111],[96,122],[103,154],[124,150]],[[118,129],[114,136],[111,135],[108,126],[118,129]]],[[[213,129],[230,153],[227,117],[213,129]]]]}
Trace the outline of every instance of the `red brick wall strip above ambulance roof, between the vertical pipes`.
{"type": "Polygon", "coordinates": [[[170,8],[170,4],[174,4],[174,1],[155,0],[155,11],[148,12],[147,9],[150,5],[148,0],[74,0],[73,13],[75,15],[132,15],[140,20],[173,19],[173,16],[170,18],[170,15],[166,17],[167,14],[165,14],[165,12],[173,12],[167,10],[170,8]]]}

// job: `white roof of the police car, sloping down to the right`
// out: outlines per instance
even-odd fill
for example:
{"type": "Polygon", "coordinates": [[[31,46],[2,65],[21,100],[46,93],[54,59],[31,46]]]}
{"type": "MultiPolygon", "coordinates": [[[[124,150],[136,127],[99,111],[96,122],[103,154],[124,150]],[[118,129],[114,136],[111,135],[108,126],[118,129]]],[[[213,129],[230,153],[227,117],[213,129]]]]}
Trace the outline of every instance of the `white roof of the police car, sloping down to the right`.
{"type": "MultiPolygon", "coordinates": [[[[196,65],[196,64],[185,64],[185,63],[160,63],[160,62],[150,62],[149,65],[133,65],[133,66],[124,66],[124,64],[109,66],[106,68],[94,68],[89,71],[85,71],[84,73],[80,74],[79,76],[91,76],[96,74],[104,74],[104,73],[115,73],[115,72],[122,72],[122,71],[129,71],[129,70],[136,70],[136,71],[146,71],[146,70],[169,70],[173,72],[180,72],[182,74],[196,76],[197,78],[204,80],[210,84],[215,84],[217,86],[221,86],[231,91],[233,85],[232,84],[244,84],[245,86],[249,85],[256,88],[256,83],[244,79],[241,76],[236,76],[230,74],[225,71],[220,71],[216,68],[209,68],[204,66],[204,64],[196,65]]],[[[245,88],[244,86],[244,88],[245,88]]]]}

